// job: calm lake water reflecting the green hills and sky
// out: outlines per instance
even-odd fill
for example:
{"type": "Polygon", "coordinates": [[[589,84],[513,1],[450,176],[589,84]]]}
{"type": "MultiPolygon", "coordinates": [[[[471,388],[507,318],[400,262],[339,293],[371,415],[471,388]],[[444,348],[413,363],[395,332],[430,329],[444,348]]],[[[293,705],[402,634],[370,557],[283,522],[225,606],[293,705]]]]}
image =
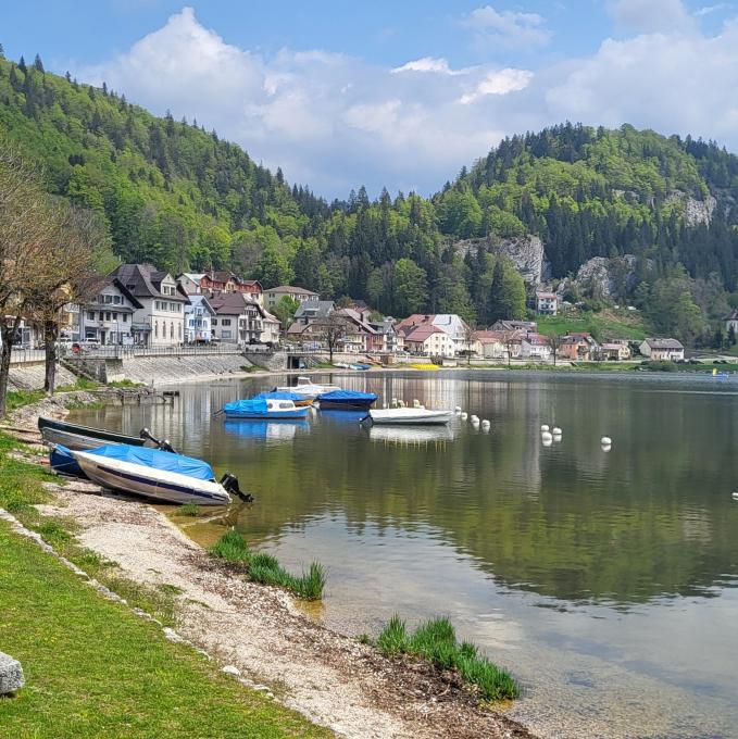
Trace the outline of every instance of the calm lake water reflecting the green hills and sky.
{"type": "MultiPolygon", "coordinates": [[[[75,414],[150,426],[257,502],[227,523],[298,567],[327,565],[312,612],[375,632],[448,614],[518,676],[511,713],[555,737],[738,737],[738,380],[499,372],[325,375],[429,408],[448,430],[225,422],[274,380],[183,386],[174,406],[75,414]],[[542,423],[563,428],[543,447],[542,423]],[[613,438],[610,452],[599,439],[613,438]]],[[[223,522],[199,524],[209,541],[223,522]]]]}

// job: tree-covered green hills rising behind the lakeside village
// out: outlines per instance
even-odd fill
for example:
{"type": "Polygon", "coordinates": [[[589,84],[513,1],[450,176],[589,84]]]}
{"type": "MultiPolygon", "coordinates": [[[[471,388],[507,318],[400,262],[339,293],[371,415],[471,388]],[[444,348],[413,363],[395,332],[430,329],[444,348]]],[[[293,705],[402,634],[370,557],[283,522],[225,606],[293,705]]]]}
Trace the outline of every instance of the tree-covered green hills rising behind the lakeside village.
{"type": "Polygon", "coordinates": [[[51,191],[104,215],[121,259],[172,272],[229,267],[479,324],[524,311],[503,256],[516,238],[541,239],[554,281],[591,256],[634,254],[617,299],[643,308],[687,290],[687,313],[716,316],[738,280],[738,159],[689,137],[566,124],[505,139],[430,199],[372,202],[360,188],[328,204],[195,121],[1,58],[0,131],[51,191]]]}

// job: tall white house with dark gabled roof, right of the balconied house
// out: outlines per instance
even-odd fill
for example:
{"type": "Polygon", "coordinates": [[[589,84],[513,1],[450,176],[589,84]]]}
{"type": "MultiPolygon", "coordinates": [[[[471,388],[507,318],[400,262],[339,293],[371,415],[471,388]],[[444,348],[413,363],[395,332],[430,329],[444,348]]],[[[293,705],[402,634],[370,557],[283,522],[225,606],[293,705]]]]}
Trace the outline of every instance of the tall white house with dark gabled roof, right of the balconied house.
{"type": "Polygon", "coordinates": [[[185,340],[187,298],[167,272],[150,264],[121,264],[111,277],[117,278],[141,308],[133,317],[134,343],[146,347],[174,347],[185,340]]]}

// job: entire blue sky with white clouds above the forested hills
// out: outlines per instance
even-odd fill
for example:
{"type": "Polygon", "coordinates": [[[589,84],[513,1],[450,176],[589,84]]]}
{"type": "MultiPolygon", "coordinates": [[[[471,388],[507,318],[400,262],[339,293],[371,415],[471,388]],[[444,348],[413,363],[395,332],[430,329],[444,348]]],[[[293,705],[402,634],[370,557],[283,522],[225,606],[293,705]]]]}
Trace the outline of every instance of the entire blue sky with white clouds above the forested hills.
{"type": "Polygon", "coordinates": [[[738,8],[716,0],[26,1],[8,57],[171,109],[326,197],[428,193],[565,118],[738,149],[738,8]]]}

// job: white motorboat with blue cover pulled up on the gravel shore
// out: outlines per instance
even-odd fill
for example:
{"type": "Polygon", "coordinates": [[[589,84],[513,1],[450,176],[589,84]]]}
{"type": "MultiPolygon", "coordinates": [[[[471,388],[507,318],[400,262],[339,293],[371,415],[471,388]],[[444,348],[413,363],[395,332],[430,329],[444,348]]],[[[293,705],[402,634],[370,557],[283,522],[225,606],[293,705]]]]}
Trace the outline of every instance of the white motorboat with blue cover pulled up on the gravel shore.
{"type": "MultiPolygon", "coordinates": [[[[225,505],[228,490],[215,480],[212,467],[201,460],[159,449],[109,444],[72,454],[93,483],[167,503],[225,505]]],[[[223,484],[229,485],[225,475],[223,484]]]]}

